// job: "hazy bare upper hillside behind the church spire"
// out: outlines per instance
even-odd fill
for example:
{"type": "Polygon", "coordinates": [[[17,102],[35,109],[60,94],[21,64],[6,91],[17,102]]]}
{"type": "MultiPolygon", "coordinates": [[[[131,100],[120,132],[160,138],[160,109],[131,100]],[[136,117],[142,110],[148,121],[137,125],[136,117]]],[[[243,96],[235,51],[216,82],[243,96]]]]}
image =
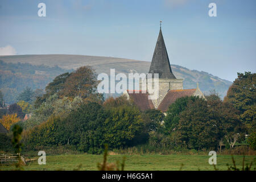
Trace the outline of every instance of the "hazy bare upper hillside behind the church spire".
{"type": "MultiPolygon", "coordinates": [[[[110,73],[110,68],[115,68],[116,73],[148,73],[149,61],[122,59],[117,57],[82,56],[82,55],[15,55],[0,56],[6,63],[30,63],[32,65],[55,65],[63,69],[76,69],[90,65],[97,73],[110,73]]],[[[184,78],[184,89],[196,88],[199,82],[200,89],[208,94],[216,90],[223,98],[232,82],[213,76],[207,72],[190,70],[179,65],[171,65],[176,78],[184,78]]],[[[36,73],[35,73],[36,74],[36,73]]],[[[1,75],[0,75],[1,76],[1,75]]],[[[2,88],[1,88],[2,89],[2,88]]]]}

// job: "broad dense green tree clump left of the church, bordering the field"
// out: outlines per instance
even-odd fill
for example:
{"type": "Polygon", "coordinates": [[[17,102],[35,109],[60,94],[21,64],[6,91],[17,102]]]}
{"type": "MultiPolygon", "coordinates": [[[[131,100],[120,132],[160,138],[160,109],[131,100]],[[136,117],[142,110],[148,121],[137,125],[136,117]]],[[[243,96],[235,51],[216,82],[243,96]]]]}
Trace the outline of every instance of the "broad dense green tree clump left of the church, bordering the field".
{"type": "Polygon", "coordinates": [[[26,132],[26,146],[66,145],[79,151],[100,154],[104,144],[110,148],[127,146],[141,134],[140,111],[132,106],[106,109],[97,103],[82,104],[65,118],[51,115],[26,132]]]}

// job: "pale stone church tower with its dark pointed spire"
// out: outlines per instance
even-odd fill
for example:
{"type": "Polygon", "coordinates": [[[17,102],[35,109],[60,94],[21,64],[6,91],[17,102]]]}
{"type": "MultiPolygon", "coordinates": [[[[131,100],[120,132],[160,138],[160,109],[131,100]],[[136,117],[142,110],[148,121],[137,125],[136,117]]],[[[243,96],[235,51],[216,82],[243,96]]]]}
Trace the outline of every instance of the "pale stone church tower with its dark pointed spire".
{"type": "MultiPolygon", "coordinates": [[[[174,76],[174,73],[172,73],[161,27],[158,40],[156,41],[155,51],[150,65],[150,71],[148,73],[152,73],[152,77],[154,76],[154,73],[159,74],[159,97],[157,100],[152,100],[155,108],[160,105],[164,96],[166,96],[169,90],[183,89],[183,79],[177,79],[174,76]]],[[[154,79],[152,81],[154,82],[154,79]]]]}

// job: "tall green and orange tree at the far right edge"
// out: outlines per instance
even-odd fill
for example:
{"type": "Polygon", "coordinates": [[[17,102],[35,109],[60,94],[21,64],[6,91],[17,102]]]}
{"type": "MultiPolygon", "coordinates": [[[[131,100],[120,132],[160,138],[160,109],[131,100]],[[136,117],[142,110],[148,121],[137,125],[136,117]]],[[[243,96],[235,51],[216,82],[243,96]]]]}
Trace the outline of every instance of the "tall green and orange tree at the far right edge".
{"type": "Polygon", "coordinates": [[[230,86],[224,102],[240,110],[240,117],[249,133],[256,130],[256,73],[237,73],[238,77],[230,86]]]}

